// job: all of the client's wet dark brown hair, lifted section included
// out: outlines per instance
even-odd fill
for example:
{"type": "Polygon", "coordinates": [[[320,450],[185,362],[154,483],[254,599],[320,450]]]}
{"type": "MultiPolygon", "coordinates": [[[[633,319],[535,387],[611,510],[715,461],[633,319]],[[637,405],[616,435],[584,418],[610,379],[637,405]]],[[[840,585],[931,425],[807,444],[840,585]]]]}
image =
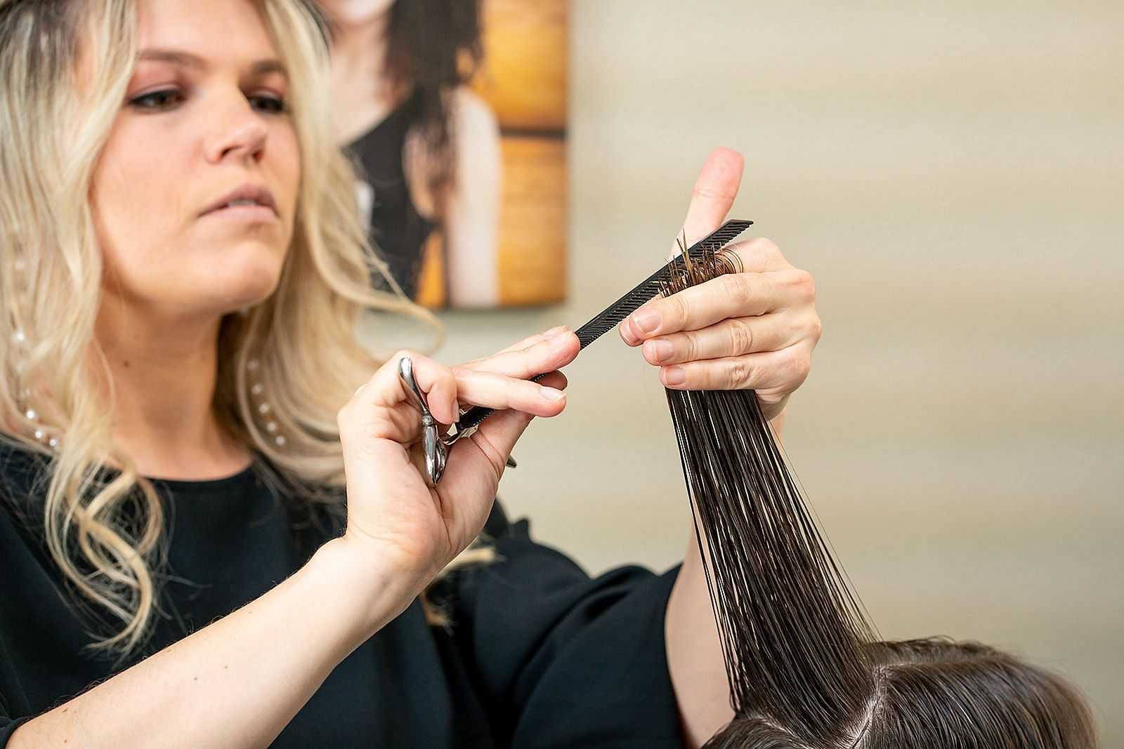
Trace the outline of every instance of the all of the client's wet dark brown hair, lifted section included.
{"type": "MultiPolygon", "coordinates": [[[[688,258],[673,293],[736,268],[688,258]]],[[[1090,749],[1059,676],[977,642],[882,642],[752,391],[667,392],[734,720],[706,749],[1090,749]]]]}

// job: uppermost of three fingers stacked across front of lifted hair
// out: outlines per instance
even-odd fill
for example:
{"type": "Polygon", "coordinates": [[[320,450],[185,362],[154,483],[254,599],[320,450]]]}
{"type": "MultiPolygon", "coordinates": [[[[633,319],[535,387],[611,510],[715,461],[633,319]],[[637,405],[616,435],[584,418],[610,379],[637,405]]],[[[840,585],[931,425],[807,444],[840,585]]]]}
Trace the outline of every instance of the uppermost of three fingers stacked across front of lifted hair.
{"type": "Polygon", "coordinates": [[[727,318],[773,312],[795,301],[791,286],[799,273],[804,272],[729,273],[671,296],[653,299],[625,318],[620,338],[629,346],[638,346],[649,338],[699,330],[727,318]]]}

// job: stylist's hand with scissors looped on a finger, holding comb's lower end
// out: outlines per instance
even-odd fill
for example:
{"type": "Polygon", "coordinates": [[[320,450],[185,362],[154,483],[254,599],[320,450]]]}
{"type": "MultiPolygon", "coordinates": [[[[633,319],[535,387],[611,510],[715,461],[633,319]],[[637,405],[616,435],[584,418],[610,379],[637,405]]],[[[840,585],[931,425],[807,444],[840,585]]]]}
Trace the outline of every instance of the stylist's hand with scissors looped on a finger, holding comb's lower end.
{"type": "Polygon", "coordinates": [[[578,350],[578,337],[555,328],[456,367],[413,351],[390,357],[338,414],[347,475],[342,540],[360,561],[414,576],[417,592],[468,547],[488,519],[507,457],[531,419],[565,408],[565,377],[556,369],[578,350]],[[455,422],[457,408],[497,409],[453,445],[436,488],[422,473],[422,414],[398,376],[404,356],[441,423],[455,422]],[[528,382],[542,372],[551,374],[528,382]]]}

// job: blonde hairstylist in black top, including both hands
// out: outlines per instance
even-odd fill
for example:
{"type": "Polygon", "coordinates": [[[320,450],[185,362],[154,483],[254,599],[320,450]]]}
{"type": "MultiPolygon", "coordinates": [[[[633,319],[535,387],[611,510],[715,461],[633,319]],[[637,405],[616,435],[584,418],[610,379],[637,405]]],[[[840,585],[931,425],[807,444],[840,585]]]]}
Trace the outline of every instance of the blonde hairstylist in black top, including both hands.
{"type": "MultiPolygon", "coordinates": [[[[369,286],[326,63],[299,0],[0,0],[0,746],[697,746],[729,707],[694,541],[590,579],[493,510],[572,332],[410,355],[438,420],[501,410],[426,487],[401,355],[355,339],[405,302],[369,286]],[[493,560],[446,569],[486,522],[493,560]]],[[[711,156],[688,239],[740,175],[711,156]]],[[[620,335],[776,422],[813,286],[738,252],[620,335]]]]}

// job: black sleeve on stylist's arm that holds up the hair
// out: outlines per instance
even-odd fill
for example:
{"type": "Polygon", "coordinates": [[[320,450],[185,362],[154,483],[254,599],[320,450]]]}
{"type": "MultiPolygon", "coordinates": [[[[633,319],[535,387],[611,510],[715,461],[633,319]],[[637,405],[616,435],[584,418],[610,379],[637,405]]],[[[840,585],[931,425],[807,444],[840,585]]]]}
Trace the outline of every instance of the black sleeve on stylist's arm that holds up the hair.
{"type": "Polygon", "coordinates": [[[486,532],[499,559],[459,573],[451,608],[500,746],[681,747],[663,630],[678,567],[590,578],[498,512],[486,532]]]}

